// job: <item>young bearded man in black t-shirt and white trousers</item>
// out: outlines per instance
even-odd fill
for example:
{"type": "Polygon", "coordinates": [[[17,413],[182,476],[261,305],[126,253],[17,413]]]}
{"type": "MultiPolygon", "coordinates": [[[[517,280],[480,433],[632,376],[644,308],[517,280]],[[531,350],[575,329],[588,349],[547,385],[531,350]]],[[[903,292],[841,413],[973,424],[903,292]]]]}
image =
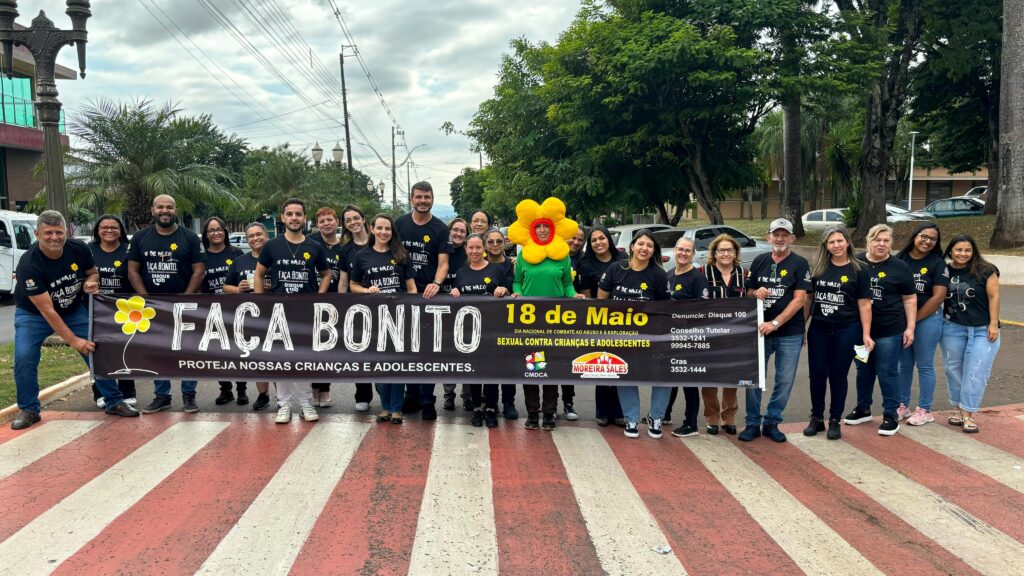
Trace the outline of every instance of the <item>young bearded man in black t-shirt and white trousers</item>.
{"type": "MultiPolygon", "coordinates": [[[[306,223],[306,205],[296,198],[286,200],[281,207],[281,221],[285,234],[268,241],[260,250],[256,264],[253,288],[257,294],[325,293],[331,287],[331,266],[324,247],[306,238],[302,227],[306,223]],[[263,279],[269,279],[267,286],[263,279]]],[[[319,419],[313,408],[311,384],[278,382],[278,416],[274,421],[287,424],[292,421],[292,399],[299,402],[302,419],[312,422],[319,419]]]]}

